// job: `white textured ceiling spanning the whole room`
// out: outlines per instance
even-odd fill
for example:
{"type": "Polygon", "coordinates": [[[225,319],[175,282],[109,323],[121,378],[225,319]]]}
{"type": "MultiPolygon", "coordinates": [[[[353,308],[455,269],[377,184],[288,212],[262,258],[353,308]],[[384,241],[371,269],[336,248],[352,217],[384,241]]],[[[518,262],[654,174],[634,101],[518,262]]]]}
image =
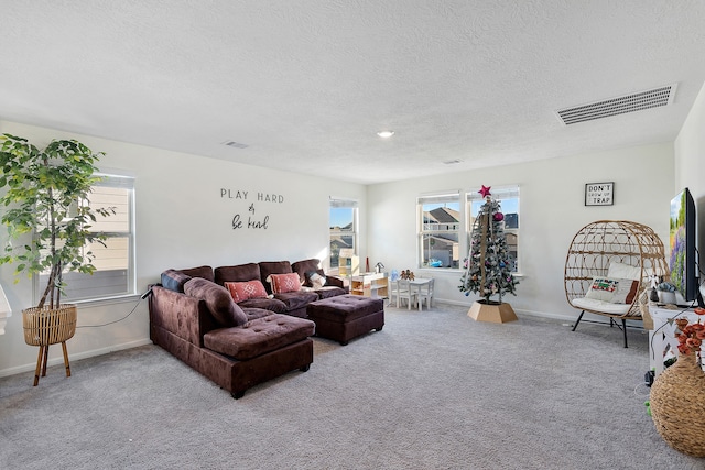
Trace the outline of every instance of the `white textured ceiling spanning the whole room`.
{"type": "Polygon", "coordinates": [[[702,0],[0,0],[0,119],[364,184],[430,176],[673,141],[704,24],[702,0]],[[555,113],[670,84],[668,107],[555,113]]]}

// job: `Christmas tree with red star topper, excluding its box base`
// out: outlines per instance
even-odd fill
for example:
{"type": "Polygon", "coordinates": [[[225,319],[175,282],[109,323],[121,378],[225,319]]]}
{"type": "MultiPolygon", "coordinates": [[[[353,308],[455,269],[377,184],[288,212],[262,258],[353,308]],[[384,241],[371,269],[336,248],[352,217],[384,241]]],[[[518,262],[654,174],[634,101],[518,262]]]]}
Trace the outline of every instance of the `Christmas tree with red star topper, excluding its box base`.
{"type": "Polygon", "coordinates": [[[505,215],[499,201],[490,196],[490,187],[482,185],[479,193],[485,197],[485,204],[479,209],[470,240],[470,254],[465,259],[465,273],[460,277],[460,292],[469,295],[477,293],[490,303],[492,295],[514,293],[519,282],[511,273],[512,260],[505,239],[505,215]]]}

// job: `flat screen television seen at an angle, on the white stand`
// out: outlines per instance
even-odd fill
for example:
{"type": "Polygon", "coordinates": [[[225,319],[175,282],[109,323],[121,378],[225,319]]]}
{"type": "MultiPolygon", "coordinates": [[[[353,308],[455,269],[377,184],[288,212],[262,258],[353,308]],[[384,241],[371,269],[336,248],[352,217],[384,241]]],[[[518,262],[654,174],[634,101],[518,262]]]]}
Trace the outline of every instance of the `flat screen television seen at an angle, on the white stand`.
{"type": "Polygon", "coordinates": [[[697,300],[703,307],[699,292],[697,249],[695,248],[695,201],[685,188],[671,199],[671,222],[669,240],[671,258],[671,283],[675,285],[685,302],[697,300]]]}

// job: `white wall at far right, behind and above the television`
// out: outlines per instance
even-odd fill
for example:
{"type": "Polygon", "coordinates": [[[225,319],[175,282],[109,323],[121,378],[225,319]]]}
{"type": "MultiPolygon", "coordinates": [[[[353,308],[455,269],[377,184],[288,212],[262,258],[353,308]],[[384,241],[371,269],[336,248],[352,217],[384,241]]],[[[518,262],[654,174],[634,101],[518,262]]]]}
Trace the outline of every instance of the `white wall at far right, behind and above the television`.
{"type": "MultiPolygon", "coordinates": [[[[705,86],[675,140],[675,188],[687,187],[697,212],[697,248],[701,270],[705,265],[705,86]]],[[[701,287],[705,295],[705,287],[701,287]]]]}

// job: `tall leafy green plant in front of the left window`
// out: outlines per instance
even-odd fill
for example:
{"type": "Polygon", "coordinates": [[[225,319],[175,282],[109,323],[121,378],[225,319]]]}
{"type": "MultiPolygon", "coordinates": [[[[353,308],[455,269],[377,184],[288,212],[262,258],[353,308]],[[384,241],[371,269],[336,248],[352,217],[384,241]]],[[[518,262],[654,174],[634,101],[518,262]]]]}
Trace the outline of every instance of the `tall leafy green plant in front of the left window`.
{"type": "Polygon", "coordinates": [[[61,305],[65,270],[86,274],[96,270],[95,256],[86,245],[105,245],[106,237],[91,232],[90,223],[96,215],[115,214],[115,208],[87,204],[91,186],[100,181],[94,174],[101,155],[75,140],[54,140],[39,150],[26,139],[0,136],[0,190],[6,189],[0,196],[1,221],[10,236],[0,264],[17,263],[15,276],[48,273],[40,308],[47,303],[50,308],[61,305]],[[30,242],[12,244],[30,234],[30,242]]]}

